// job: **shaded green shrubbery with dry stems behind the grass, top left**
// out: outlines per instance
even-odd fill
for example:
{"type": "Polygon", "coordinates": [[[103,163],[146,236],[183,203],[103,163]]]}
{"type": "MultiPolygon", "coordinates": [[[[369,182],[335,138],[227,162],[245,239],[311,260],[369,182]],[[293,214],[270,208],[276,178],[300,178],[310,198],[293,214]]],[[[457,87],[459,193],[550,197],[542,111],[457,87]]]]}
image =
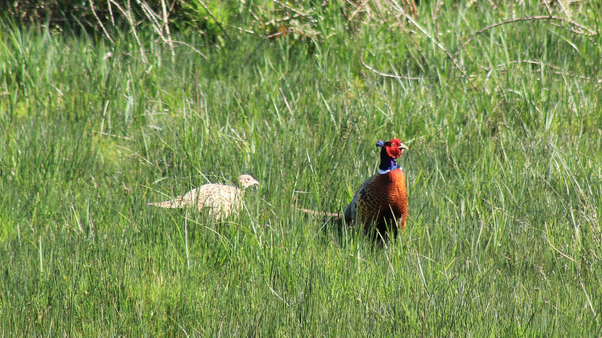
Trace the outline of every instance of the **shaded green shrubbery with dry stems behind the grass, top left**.
{"type": "Polygon", "coordinates": [[[273,1],[217,1],[217,0],[96,0],[73,2],[12,1],[0,2],[0,13],[5,19],[33,26],[48,26],[56,31],[76,32],[114,38],[123,34],[122,27],[130,31],[140,27],[153,27],[163,31],[196,34],[205,41],[229,43],[244,39],[245,34],[278,34],[297,32],[315,36],[320,8],[313,2],[287,4],[273,1]],[[292,6],[292,7],[291,7],[292,6]],[[296,8],[298,7],[298,8],[296,8]],[[131,19],[131,21],[130,21],[131,19]],[[141,24],[141,25],[140,25],[141,24]]]}

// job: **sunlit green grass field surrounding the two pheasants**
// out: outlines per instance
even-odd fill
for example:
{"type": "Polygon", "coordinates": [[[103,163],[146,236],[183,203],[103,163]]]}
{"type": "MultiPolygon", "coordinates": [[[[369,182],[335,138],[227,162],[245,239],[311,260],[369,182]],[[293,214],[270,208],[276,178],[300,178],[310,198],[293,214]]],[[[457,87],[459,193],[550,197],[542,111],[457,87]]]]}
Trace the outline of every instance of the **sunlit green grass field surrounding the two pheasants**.
{"type": "Polygon", "coordinates": [[[350,29],[333,2],[314,40],[172,63],[141,34],[148,64],[4,20],[2,337],[602,336],[602,7],[542,4],[350,29]],[[394,137],[397,244],[296,209],[342,210],[394,137]],[[241,173],[223,223],[146,206],[241,173]]]}

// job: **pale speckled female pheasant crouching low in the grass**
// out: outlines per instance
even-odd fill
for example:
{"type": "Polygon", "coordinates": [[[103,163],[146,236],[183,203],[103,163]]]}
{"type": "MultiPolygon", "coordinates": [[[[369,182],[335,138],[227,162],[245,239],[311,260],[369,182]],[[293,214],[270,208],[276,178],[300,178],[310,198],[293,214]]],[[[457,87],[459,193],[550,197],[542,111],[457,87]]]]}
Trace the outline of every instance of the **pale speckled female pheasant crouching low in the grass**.
{"type": "Polygon", "coordinates": [[[199,211],[207,208],[209,209],[209,213],[218,220],[220,217],[228,217],[231,212],[237,212],[243,206],[244,189],[259,184],[250,175],[238,176],[238,182],[240,182],[242,189],[231,185],[208,183],[203,184],[197,189],[192,189],[184,196],[178,196],[173,200],[147,203],[146,205],[168,208],[197,206],[199,211]]]}

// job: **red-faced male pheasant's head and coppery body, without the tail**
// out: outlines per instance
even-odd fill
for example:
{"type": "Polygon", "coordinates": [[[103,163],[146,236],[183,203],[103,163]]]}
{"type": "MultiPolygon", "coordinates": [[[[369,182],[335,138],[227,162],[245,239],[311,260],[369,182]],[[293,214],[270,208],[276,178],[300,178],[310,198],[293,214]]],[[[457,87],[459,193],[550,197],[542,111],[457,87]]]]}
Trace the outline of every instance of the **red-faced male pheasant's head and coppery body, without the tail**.
{"type": "Polygon", "coordinates": [[[362,183],[345,209],[344,217],[347,226],[362,224],[366,235],[385,241],[387,229],[391,229],[393,239],[397,239],[398,227],[403,230],[408,219],[406,177],[397,165],[397,158],[408,147],[397,138],[378,141],[376,146],[382,147],[379,171],[362,183]]]}

